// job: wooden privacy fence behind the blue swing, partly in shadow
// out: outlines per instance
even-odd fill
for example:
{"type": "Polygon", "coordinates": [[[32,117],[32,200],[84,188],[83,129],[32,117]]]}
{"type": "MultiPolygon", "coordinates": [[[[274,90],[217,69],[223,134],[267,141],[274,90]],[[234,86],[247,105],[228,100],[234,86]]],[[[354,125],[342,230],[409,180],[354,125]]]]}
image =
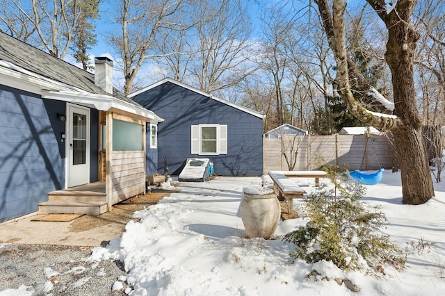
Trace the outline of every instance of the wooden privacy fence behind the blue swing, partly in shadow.
{"type": "Polygon", "coordinates": [[[367,145],[366,135],[282,135],[281,139],[264,138],[263,147],[264,174],[289,170],[286,158],[290,161],[291,156],[292,160],[296,157],[293,170],[316,170],[320,158],[325,163],[348,163],[349,170],[394,166],[394,151],[385,135],[371,135],[367,145]]]}

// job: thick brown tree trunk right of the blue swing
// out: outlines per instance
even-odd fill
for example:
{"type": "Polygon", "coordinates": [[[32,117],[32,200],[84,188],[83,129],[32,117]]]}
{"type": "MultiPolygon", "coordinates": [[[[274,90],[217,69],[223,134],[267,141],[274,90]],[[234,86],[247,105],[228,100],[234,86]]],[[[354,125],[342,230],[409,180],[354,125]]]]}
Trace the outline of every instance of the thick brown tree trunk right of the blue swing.
{"type": "MultiPolygon", "coordinates": [[[[391,15],[394,16],[394,15],[391,15]]],[[[399,17],[399,16],[397,16],[399,17]]],[[[390,18],[390,16],[389,16],[390,18]]],[[[394,113],[401,124],[392,129],[394,149],[401,167],[403,204],[423,204],[435,195],[428,155],[423,145],[423,124],[416,107],[414,52],[419,33],[409,23],[388,19],[385,60],[391,69],[394,113]]]]}

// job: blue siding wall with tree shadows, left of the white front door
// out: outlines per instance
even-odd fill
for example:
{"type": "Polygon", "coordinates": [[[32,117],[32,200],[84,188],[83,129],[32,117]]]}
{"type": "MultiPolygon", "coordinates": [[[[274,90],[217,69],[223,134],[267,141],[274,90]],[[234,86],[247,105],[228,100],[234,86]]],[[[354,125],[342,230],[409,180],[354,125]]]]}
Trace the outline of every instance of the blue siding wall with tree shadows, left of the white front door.
{"type": "Polygon", "coordinates": [[[0,222],[38,210],[65,183],[65,102],[0,85],[0,222]]]}

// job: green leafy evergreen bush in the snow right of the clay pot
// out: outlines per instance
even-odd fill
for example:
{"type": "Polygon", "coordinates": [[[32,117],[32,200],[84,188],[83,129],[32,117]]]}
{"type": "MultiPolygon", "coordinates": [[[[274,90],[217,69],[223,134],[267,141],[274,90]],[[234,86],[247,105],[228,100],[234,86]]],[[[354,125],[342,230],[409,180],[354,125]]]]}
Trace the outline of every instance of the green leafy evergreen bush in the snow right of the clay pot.
{"type": "Polygon", "coordinates": [[[339,197],[325,186],[307,197],[305,218],[309,221],[283,238],[296,245],[290,256],[307,263],[325,259],[341,270],[362,270],[375,276],[378,265],[403,269],[401,249],[380,231],[387,225],[385,214],[378,207],[370,211],[359,201],[364,196],[364,186],[351,183],[345,171],[328,175],[335,178],[339,197]]]}

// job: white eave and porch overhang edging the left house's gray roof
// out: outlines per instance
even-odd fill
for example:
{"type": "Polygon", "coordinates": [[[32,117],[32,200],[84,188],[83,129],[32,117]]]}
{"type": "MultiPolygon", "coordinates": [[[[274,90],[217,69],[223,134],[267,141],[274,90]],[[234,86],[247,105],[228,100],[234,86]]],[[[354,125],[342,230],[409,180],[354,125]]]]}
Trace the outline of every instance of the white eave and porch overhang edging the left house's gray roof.
{"type": "Polygon", "coordinates": [[[40,94],[44,99],[67,101],[102,111],[122,110],[147,122],[156,124],[163,122],[161,117],[143,106],[130,104],[111,95],[86,92],[72,85],[35,74],[6,60],[0,60],[0,81],[1,84],[11,88],[40,94]]]}

